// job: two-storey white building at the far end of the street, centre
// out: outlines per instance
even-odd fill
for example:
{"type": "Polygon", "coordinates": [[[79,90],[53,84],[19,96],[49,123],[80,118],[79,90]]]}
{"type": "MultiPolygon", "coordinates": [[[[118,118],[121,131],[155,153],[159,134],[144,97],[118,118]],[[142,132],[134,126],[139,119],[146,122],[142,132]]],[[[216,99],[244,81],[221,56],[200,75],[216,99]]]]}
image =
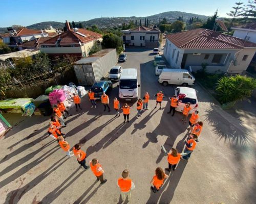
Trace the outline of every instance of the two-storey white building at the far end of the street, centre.
{"type": "Polygon", "coordinates": [[[123,30],[123,43],[129,46],[158,47],[159,31],[140,26],[133,30],[123,30]]]}

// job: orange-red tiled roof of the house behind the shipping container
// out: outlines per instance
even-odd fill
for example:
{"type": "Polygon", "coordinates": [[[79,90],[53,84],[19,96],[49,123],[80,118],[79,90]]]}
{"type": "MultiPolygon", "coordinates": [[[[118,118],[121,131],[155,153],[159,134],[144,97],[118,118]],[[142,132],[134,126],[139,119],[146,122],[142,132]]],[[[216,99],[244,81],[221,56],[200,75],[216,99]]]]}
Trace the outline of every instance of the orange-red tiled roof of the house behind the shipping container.
{"type": "Polygon", "coordinates": [[[88,31],[86,29],[78,29],[77,32],[74,32],[73,30],[68,30],[66,32],[61,33],[60,35],[57,35],[55,37],[52,37],[51,39],[45,41],[44,43],[41,43],[42,45],[53,45],[56,43],[58,39],[60,39],[60,45],[65,44],[79,44],[81,43],[87,43],[90,41],[97,40],[101,38],[102,35],[99,33],[95,33],[92,31],[88,31]],[[80,34],[82,35],[80,35],[80,34]]]}

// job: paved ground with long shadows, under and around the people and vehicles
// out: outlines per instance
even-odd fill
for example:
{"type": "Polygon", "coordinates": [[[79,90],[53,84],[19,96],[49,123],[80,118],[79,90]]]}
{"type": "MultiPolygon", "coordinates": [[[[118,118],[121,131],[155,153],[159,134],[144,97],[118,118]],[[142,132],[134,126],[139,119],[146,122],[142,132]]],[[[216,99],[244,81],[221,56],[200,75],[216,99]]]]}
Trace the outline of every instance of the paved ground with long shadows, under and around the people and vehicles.
{"type": "MultiPolygon", "coordinates": [[[[91,170],[79,168],[74,157],[68,159],[46,133],[48,119],[34,116],[0,140],[0,203],[118,203],[117,179],[124,168],[130,170],[135,184],[129,203],[255,203],[255,126],[220,109],[197,85],[199,115],[204,121],[200,142],[189,161],[181,161],[169,174],[163,188],[151,191],[156,167],[167,167],[161,145],[182,151],[187,126],[180,123],[180,113],[166,114],[167,97],[176,86],[158,84],[150,53],[128,49],[127,61],[120,63],[123,68],[137,68],[139,94],[150,93],[150,110],[137,118],[135,104],[131,122],[123,124],[122,115],[115,118],[113,110],[103,112],[99,101],[97,109],[91,109],[85,97],[82,111],[72,109],[68,126],[62,130],[71,146],[83,145],[87,162],[99,159],[108,182],[100,185],[91,170]],[[159,90],[166,96],[164,109],[154,110],[153,95],[159,90]]],[[[111,101],[118,95],[117,84],[110,93],[111,101]]],[[[255,112],[251,119],[255,120],[255,112]]]]}

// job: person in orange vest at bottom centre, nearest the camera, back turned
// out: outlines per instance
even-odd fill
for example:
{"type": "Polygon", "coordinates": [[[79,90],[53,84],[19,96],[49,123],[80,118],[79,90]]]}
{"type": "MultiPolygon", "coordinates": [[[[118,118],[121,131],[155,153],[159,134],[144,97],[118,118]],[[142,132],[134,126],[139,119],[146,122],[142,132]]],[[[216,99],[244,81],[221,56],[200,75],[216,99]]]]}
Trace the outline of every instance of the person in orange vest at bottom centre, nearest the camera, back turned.
{"type": "Polygon", "coordinates": [[[120,188],[121,191],[121,199],[122,201],[125,200],[125,196],[127,195],[128,201],[131,200],[132,197],[132,191],[135,186],[133,181],[129,177],[129,170],[124,169],[122,172],[122,178],[119,178],[117,180],[117,186],[120,188]]]}

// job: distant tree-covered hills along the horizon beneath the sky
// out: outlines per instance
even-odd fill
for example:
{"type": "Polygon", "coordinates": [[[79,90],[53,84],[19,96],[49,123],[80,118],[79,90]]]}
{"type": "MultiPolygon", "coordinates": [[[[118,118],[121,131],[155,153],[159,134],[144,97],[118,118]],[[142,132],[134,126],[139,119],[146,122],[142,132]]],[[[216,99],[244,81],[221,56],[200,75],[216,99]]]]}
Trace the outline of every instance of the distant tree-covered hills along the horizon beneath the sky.
{"type": "MultiPolygon", "coordinates": [[[[200,19],[206,19],[207,16],[204,15],[198,15],[195,13],[186,13],[186,12],[181,12],[181,11],[168,11],[164,13],[159,13],[155,14],[152,16],[146,16],[146,17],[136,17],[136,16],[131,16],[131,17],[102,17],[102,18],[94,18],[91,20],[87,21],[78,21],[75,22],[76,24],[82,23],[83,26],[85,27],[90,27],[91,25],[98,25],[98,27],[114,27],[117,25],[120,25],[122,22],[123,23],[129,23],[130,20],[137,20],[138,22],[141,19],[142,24],[144,24],[144,19],[148,18],[150,23],[157,23],[159,21],[159,17],[162,18],[167,18],[168,21],[174,21],[176,20],[179,16],[183,16],[183,20],[188,20],[190,17],[199,17],[200,19]]],[[[69,19],[72,21],[72,19],[69,19]]],[[[28,29],[45,29],[49,28],[50,25],[52,25],[53,28],[55,29],[62,29],[64,26],[64,22],[56,22],[56,21],[46,21],[46,22],[39,22],[35,23],[32,25],[27,26],[28,29]]],[[[0,33],[6,32],[6,28],[0,28],[0,33]]]]}

